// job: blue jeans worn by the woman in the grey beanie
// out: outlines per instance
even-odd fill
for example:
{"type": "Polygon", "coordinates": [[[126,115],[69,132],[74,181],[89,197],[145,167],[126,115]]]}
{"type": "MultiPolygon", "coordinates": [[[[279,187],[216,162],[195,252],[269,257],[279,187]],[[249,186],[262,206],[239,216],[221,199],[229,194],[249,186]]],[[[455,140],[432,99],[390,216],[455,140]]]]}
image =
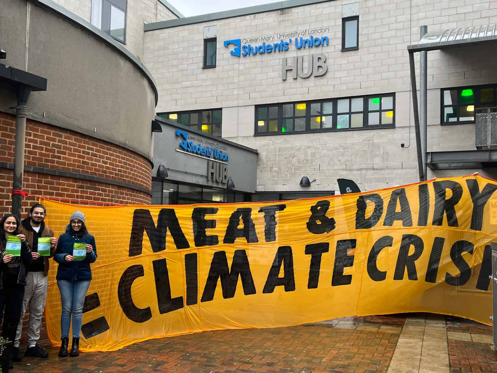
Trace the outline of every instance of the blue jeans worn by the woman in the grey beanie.
{"type": "Polygon", "coordinates": [[[84,298],[86,297],[89,285],[90,280],[57,280],[62,301],[62,338],[69,337],[71,314],[73,314],[73,338],[80,338],[81,324],[83,323],[84,298]]]}

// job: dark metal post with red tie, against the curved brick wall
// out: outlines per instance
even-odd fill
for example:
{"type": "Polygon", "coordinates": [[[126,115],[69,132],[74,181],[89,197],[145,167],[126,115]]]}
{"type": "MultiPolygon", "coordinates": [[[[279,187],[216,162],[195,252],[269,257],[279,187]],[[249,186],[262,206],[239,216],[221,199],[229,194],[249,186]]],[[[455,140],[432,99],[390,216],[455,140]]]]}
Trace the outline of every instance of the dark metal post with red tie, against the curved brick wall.
{"type": "MultiPolygon", "coordinates": [[[[14,178],[12,188],[22,189],[22,177],[24,174],[24,142],[26,137],[26,114],[27,102],[31,87],[21,85],[17,87],[17,106],[15,108],[15,149],[14,149],[14,178]]],[[[12,214],[21,218],[22,196],[12,195],[12,214]]]]}

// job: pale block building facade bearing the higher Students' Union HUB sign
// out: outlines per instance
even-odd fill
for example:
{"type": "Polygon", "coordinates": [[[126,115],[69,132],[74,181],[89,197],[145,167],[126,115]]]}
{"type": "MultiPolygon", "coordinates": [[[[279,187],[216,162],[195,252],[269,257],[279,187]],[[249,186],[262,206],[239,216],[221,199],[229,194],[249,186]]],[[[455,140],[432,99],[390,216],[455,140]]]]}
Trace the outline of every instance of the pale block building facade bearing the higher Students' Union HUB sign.
{"type": "MultiPolygon", "coordinates": [[[[159,115],[258,151],[255,195],[330,194],[343,177],[371,190],[419,180],[407,48],[420,26],[496,22],[489,0],[283,1],[147,24],[144,63],[159,115]]],[[[428,153],[476,150],[475,114],[497,106],[496,55],[428,52],[428,153]]],[[[428,179],[496,174],[431,166],[428,179]]]]}

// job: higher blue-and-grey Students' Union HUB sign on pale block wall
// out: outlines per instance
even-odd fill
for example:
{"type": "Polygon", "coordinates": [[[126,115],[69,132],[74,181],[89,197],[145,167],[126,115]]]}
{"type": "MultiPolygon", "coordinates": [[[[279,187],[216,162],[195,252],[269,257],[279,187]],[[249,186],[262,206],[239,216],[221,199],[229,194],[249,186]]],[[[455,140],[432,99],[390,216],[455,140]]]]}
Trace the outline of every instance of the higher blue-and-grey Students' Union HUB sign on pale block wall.
{"type": "MultiPolygon", "coordinates": [[[[275,35],[265,35],[246,39],[232,39],[224,41],[224,46],[230,48],[230,54],[237,57],[253,56],[257,54],[271,54],[288,51],[292,45],[295,49],[307,49],[327,46],[330,43],[328,36],[313,36],[328,32],[329,28],[316,28],[300,30],[275,35]],[[279,42],[275,40],[280,39],[279,42]]],[[[284,57],[281,59],[281,79],[286,80],[290,71],[293,79],[309,78],[311,75],[319,77],[328,71],[326,56],[322,53],[306,56],[308,62],[307,71],[304,72],[304,56],[291,58],[291,62],[284,57]]]]}

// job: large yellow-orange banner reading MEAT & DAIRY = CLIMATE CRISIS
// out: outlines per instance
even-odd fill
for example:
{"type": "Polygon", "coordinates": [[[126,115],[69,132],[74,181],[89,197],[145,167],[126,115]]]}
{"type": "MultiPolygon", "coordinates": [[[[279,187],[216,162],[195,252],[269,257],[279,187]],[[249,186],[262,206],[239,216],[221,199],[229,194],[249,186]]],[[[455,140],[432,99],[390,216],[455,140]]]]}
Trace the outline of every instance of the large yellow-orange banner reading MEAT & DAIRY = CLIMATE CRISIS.
{"type": "MultiPolygon", "coordinates": [[[[94,207],[44,200],[59,236],[75,209],[97,261],[83,351],[206,330],[434,312],[489,323],[497,182],[481,176],[267,203],[94,207]]],[[[52,262],[46,306],[60,344],[52,262]]]]}

